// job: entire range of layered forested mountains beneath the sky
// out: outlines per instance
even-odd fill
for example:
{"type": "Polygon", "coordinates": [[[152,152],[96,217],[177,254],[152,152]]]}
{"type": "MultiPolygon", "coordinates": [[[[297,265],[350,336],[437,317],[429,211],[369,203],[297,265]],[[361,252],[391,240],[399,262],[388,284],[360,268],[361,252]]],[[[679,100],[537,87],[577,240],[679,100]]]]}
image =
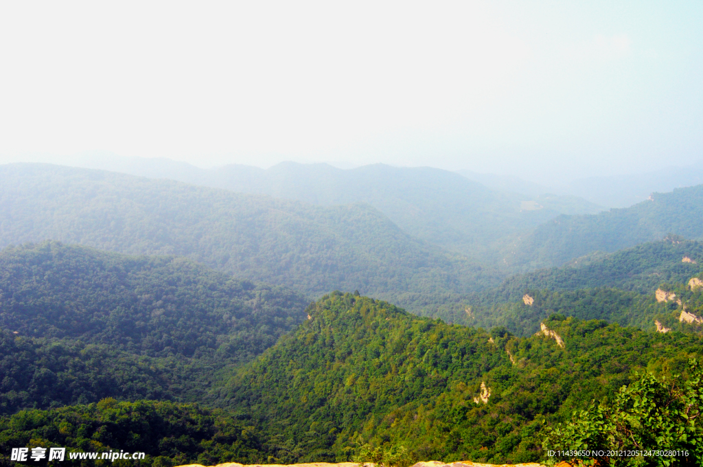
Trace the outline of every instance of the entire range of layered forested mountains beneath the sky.
{"type": "MultiPolygon", "coordinates": [[[[279,169],[266,184],[301,198],[344,188],[328,167],[279,169]]],[[[347,189],[375,194],[330,204],[0,166],[0,465],[18,446],[154,467],[519,463],[586,435],[703,459],[702,187],[519,228],[546,207],[361,169],[373,183],[347,189]],[[423,222],[439,238],[476,212],[471,257],[372,205],[431,213],[456,193],[423,222]]]]}

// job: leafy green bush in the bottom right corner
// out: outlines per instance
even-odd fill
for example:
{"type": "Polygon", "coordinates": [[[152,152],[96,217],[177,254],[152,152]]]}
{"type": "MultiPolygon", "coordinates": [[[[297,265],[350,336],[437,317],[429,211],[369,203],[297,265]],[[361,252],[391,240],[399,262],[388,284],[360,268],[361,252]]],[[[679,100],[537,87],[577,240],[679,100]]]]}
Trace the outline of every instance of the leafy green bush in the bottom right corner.
{"type": "Polygon", "coordinates": [[[548,429],[543,447],[556,459],[596,459],[603,466],[678,466],[703,461],[703,371],[695,359],[687,380],[666,380],[645,373],[618,392],[612,404],[591,404],[565,426],[548,429]],[[647,451],[675,451],[663,456],[647,451]],[[563,451],[598,451],[570,456],[563,451]],[[612,455],[636,452],[639,455],[612,455]],[[685,454],[683,454],[685,453],[685,454]]]}

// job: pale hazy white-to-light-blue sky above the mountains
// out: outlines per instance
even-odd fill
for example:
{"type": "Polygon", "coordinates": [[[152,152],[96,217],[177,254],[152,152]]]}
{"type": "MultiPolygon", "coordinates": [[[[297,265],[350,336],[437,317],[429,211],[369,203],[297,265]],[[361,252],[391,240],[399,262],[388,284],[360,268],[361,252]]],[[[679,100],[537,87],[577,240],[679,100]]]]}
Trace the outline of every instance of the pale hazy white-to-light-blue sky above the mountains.
{"type": "Polygon", "coordinates": [[[702,1],[6,1],[0,162],[686,165],[702,25],[702,1]]]}

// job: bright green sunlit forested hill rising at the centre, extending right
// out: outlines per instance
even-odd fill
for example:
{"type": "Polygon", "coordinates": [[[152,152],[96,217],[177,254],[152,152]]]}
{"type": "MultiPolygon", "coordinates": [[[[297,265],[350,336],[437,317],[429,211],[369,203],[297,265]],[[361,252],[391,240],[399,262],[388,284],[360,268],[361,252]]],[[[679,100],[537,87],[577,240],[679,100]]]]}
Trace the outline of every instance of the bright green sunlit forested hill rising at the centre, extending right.
{"type": "Polygon", "coordinates": [[[612,397],[636,369],[677,371],[703,343],[559,316],[543,323],[551,334],[515,338],[341,293],[309,314],[221,391],[278,436],[286,462],[344,459],[364,442],[411,459],[536,460],[545,426],[612,397]]]}

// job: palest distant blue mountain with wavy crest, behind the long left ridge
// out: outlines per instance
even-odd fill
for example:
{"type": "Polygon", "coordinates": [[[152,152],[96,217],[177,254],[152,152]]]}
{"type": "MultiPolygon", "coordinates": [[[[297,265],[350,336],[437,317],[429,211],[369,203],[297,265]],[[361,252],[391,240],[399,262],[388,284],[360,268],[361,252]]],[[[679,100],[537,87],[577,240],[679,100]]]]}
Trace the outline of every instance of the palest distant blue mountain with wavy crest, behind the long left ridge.
{"type": "Polygon", "coordinates": [[[575,196],[495,190],[431,167],[375,164],[337,169],[327,164],[282,162],[269,169],[246,165],[198,169],[183,162],[139,158],[115,158],[112,163],[108,159],[103,164],[118,172],[318,205],[368,203],[412,236],[493,263],[501,238],[559,214],[602,209],[575,196]]]}

